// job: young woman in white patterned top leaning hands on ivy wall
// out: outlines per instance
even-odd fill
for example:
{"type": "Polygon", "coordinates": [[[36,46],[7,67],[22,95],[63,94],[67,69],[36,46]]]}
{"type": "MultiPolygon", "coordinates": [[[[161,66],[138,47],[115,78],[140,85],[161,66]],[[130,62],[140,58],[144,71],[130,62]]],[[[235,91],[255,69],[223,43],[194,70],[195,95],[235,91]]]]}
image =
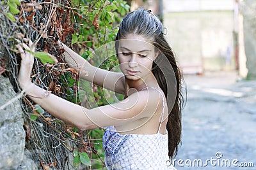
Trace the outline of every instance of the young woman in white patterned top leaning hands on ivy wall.
{"type": "Polygon", "coordinates": [[[108,169],[175,169],[170,159],[180,143],[181,76],[159,19],[142,8],[124,17],[115,42],[122,73],[94,67],[63,46],[66,62],[81,78],[124,94],[124,100],[89,110],[37,87],[30,80],[34,57],[24,52],[35,50],[31,41],[17,46],[19,84],[26,94],[81,131],[107,127],[103,146],[108,169]]]}

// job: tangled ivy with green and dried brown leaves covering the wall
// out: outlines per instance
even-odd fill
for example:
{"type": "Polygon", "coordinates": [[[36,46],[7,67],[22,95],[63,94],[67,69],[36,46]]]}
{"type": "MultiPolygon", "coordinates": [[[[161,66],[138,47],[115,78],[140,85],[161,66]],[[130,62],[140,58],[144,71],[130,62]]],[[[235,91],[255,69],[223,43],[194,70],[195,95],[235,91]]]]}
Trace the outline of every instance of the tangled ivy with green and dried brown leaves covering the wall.
{"type": "MultiPolygon", "coordinates": [[[[123,96],[102,87],[79,81],[77,71],[64,62],[58,40],[91,64],[111,70],[118,65],[116,57],[102,62],[97,48],[115,40],[118,24],[129,11],[125,1],[8,0],[1,1],[0,11],[1,27],[8,28],[0,32],[0,43],[8,54],[0,57],[0,74],[10,78],[17,92],[21,91],[17,83],[20,56],[15,45],[31,39],[36,47],[31,79],[39,87],[86,107],[92,107],[91,101],[102,106],[114,102],[114,96],[122,99],[123,96]],[[83,96],[88,91],[92,95],[81,101],[83,97],[78,94],[83,96]]],[[[26,96],[22,97],[22,107],[26,149],[42,169],[104,168],[103,129],[79,132],[52,117],[26,96]]]]}

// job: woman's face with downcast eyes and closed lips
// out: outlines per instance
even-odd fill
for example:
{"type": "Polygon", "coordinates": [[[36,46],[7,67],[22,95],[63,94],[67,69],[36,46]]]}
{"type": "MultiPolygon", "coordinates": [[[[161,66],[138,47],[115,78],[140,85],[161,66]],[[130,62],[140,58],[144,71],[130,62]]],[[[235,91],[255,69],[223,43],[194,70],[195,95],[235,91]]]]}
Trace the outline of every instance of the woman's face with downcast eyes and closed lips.
{"type": "Polygon", "coordinates": [[[147,78],[157,55],[154,45],[141,35],[128,34],[119,40],[119,66],[129,80],[147,78]]]}

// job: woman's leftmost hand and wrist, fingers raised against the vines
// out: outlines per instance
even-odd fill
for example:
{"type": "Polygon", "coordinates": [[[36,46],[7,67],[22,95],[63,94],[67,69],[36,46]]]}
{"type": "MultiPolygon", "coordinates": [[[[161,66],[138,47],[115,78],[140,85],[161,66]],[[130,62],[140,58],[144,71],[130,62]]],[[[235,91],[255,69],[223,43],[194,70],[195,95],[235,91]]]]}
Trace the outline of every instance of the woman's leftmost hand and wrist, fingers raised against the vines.
{"type": "Polygon", "coordinates": [[[30,39],[24,39],[24,41],[27,42],[28,45],[25,43],[17,45],[21,57],[18,81],[20,88],[26,91],[32,84],[30,75],[34,64],[33,53],[35,52],[35,46],[30,39]]]}

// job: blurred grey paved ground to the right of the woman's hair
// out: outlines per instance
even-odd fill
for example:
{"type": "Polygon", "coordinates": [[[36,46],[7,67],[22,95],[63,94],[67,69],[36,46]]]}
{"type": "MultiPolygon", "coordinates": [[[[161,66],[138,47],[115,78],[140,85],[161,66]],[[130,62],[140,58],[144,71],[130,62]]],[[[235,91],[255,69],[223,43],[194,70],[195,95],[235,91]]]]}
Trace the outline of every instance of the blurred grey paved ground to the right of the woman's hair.
{"type": "Polygon", "coordinates": [[[182,146],[175,157],[175,167],[256,169],[256,81],[236,81],[234,72],[184,78],[188,99],[182,118],[182,146]],[[178,165],[179,159],[184,167],[178,165]],[[239,167],[243,162],[253,162],[254,167],[239,167]]]}

